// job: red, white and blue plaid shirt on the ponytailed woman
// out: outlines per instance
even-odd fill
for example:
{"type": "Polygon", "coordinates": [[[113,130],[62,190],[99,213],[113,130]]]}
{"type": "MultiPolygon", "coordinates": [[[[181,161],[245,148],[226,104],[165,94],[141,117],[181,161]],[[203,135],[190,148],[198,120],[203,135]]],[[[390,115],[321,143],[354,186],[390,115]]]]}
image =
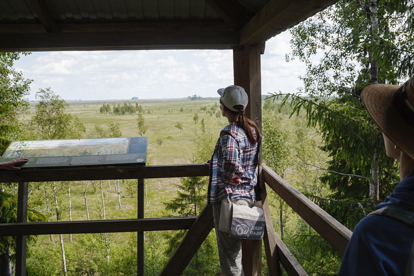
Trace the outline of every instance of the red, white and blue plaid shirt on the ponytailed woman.
{"type": "MultiPolygon", "coordinates": [[[[254,129],[252,130],[255,134],[254,129]]],[[[255,200],[258,144],[260,143],[250,143],[238,122],[233,122],[221,130],[210,160],[207,204],[217,205],[226,196],[230,200],[255,200]],[[229,185],[234,174],[242,180],[237,186],[229,185]]]]}

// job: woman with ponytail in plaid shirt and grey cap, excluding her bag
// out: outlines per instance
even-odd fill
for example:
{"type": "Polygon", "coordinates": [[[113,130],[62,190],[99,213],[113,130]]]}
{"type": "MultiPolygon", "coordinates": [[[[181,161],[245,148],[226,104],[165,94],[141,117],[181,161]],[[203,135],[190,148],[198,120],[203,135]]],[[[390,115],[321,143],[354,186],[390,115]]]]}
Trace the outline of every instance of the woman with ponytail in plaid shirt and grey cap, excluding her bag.
{"type": "Polygon", "coordinates": [[[241,240],[218,230],[221,200],[229,197],[236,205],[253,207],[257,184],[257,167],[261,135],[244,115],[248,97],[243,87],[230,85],[217,90],[221,114],[229,125],[220,132],[210,168],[207,204],[213,205],[218,255],[223,276],[243,276],[241,240]]]}

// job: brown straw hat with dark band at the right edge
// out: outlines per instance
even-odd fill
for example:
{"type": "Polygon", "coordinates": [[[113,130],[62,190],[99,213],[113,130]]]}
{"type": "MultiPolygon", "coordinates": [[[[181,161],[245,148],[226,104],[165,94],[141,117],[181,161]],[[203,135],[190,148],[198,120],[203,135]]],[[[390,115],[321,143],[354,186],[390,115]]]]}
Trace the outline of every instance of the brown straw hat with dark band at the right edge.
{"type": "Polygon", "coordinates": [[[402,86],[369,85],[362,101],[383,133],[414,159],[414,76],[402,86]]]}

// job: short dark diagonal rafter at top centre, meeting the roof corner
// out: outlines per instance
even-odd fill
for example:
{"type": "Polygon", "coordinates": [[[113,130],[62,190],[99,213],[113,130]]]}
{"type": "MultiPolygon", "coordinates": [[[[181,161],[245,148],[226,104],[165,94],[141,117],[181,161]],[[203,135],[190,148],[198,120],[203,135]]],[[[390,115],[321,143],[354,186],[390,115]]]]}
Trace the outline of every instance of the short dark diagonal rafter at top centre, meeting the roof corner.
{"type": "Polygon", "coordinates": [[[235,30],[240,30],[250,16],[237,0],[205,0],[220,17],[235,30]]]}

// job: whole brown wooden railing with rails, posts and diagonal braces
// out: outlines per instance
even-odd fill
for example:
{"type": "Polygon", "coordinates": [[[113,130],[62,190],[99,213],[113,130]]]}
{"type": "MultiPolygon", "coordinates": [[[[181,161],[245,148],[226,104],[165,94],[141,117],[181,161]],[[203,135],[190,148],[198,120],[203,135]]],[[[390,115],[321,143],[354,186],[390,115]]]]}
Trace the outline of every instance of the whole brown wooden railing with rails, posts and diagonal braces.
{"type": "MultiPolygon", "coordinates": [[[[341,255],[344,254],[351,231],[335,220],[323,209],[294,189],[265,164],[261,165],[261,183],[263,183],[263,208],[266,215],[266,232],[264,245],[270,275],[281,275],[280,264],[288,275],[307,275],[294,256],[277,236],[266,192],[266,185],[276,192],[296,213],[313,227],[341,255]]],[[[17,182],[18,206],[17,223],[0,225],[0,236],[16,236],[16,276],[24,276],[26,267],[26,236],[46,234],[80,234],[138,232],[138,276],[143,276],[144,268],[144,231],[189,229],[171,258],[164,266],[160,276],[181,275],[190,263],[208,233],[214,227],[212,207],[206,206],[198,217],[162,217],[144,218],[143,179],[173,178],[189,176],[207,176],[208,168],[203,164],[165,165],[165,166],[122,166],[89,168],[50,168],[22,169],[20,171],[2,171],[1,182],[17,182]],[[136,219],[89,220],[62,222],[27,222],[28,183],[40,181],[75,181],[102,179],[137,179],[138,180],[138,214],[136,219]]],[[[260,243],[246,243],[249,248],[245,258],[245,275],[259,275],[260,268],[251,262],[261,262],[260,243]],[[246,262],[246,260],[253,260],[246,262]],[[248,268],[248,269],[247,269],[248,268]]],[[[243,244],[243,246],[246,246],[243,244]]],[[[246,247],[247,247],[246,246],[246,247]]],[[[244,247],[243,247],[244,248],[244,247]]],[[[247,251],[247,250],[246,250],[247,251]]],[[[245,254],[245,253],[243,253],[245,254]]]]}

